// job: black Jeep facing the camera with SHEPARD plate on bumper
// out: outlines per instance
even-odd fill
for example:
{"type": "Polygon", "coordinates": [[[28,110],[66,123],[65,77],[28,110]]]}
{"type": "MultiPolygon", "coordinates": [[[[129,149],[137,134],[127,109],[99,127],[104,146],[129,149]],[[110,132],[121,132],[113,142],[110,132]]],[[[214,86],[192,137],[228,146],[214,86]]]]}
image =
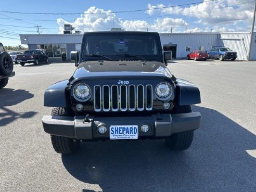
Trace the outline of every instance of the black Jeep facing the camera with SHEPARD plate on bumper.
{"type": "Polygon", "coordinates": [[[81,141],[165,139],[173,150],[188,149],[201,114],[199,89],[167,69],[158,33],[88,32],[69,80],[50,86],[42,119],[58,153],[78,150],[81,141]]]}

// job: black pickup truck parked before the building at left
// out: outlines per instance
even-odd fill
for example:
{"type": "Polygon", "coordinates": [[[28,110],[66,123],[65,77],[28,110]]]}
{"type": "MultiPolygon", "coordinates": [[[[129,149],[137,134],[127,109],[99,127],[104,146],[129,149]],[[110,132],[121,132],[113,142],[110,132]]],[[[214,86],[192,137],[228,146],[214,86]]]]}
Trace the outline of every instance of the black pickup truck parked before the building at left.
{"type": "Polygon", "coordinates": [[[25,50],[24,54],[17,55],[17,61],[21,66],[25,63],[34,63],[38,65],[40,62],[48,63],[48,56],[41,52],[41,50],[25,50]]]}

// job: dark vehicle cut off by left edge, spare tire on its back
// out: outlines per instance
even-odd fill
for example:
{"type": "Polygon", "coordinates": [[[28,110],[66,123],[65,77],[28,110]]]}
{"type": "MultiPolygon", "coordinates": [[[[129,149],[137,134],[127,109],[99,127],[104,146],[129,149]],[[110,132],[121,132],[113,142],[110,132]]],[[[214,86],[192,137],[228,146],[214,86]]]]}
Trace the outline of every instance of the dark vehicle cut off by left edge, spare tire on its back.
{"type": "Polygon", "coordinates": [[[0,88],[7,85],[11,76],[15,76],[14,63],[11,56],[5,51],[4,46],[0,43],[0,88]]]}

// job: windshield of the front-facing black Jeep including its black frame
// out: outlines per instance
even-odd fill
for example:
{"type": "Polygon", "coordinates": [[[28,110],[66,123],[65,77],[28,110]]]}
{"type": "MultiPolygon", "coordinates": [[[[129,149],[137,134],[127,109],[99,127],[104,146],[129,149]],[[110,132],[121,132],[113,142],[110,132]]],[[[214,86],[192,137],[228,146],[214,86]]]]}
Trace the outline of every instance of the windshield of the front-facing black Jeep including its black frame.
{"type": "Polygon", "coordinates": [[[99,60],[90,55],[101,55],[113,60],[163,62],[160,37],[155,32],[87,32],[82,40],[80,63],[99,60]]]}

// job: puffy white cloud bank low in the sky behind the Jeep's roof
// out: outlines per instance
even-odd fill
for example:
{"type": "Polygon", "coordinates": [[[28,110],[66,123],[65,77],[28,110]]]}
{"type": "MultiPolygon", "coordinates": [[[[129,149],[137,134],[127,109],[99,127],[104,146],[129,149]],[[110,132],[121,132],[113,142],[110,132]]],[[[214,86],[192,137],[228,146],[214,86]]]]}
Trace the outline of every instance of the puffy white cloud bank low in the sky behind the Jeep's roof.
{"type": "Polygon", "coordinates": [[[112,14],[110,10],[98,9],[96,7],[88,8],[83,15],[75,19],[74,23],[67,22],[63,19],[57,19],[59,31],[63,33],[64,24],[71,24],[82,32],[105,30],[109,31],[112,27],[122,28],[125,31],[157,31],[170,32],[172,27],[186,27],[188,23],[181,18],[158,18],[153,23],[145,20],[121,20],[112,14]],[[113,24],[114,17],[114,24],[113,24]]]}

